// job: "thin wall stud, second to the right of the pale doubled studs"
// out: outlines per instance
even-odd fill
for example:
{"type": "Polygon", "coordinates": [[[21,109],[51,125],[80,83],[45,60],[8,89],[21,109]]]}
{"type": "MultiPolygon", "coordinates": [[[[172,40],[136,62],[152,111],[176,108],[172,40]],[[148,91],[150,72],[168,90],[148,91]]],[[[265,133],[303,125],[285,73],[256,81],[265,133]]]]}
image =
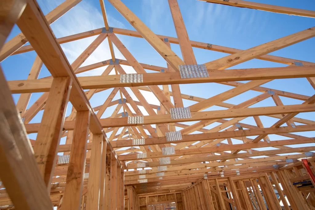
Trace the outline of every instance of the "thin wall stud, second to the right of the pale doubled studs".
{"type": "Polygon", "coordinates": [[[117,160],[112,155],[111,164],[111,204],[110,209],[116,210],[117,207],[117,160]]]}

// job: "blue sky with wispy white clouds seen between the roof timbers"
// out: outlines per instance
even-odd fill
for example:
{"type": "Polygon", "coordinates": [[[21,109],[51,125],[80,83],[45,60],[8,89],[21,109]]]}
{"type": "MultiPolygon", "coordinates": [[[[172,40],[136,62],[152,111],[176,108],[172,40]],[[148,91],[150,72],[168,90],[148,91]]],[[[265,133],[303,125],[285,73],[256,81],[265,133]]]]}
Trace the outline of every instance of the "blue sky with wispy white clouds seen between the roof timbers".
{"type": "MultiPolygon", "coordinates": [[[[63,1],[39,0],[38,2],[44,14],[47,14],[63,1]]],[[[294,0],[256,0],[253,2],[315,10],[315,2],[313,0],[299,1],[299,3],[294,0]]],[[[176,37],[175,27],[167,0],[123,0],[123,3],[125,3],[126,6],[131,9],[154,33],[176,37]]],[[[314,18],[276,14],[254,9],[236,8],[195,0],[178,0],[178,3],[190,40],[211,43],[225,47],[248,49],[315,26],[314,18]]],[[[110,26],[135,30],[109,2],[105,1],[105,7],[110,26]]],[[[99,0],[83,0],[51,25],[57,38],[93,30],[103,26],[104,23],[101,15],[99,0]]],[[[17,35],[19,32],[20,30],[18,27],[14,27],[14,30],[9,36],[9,39],[17,35]]],[[[117,36],[139,62],[166,67],[166,61],[163,60],[163,58],[146,42],[145,39],[127,37],[123,35],[117,36]]],[[[61,46],[69,62],[72,63],[95,38],[96,36],[62,44],[61,46]]],[[[295,58],[299,60],[315,62],[314,46],[315,38],[311,38],[271,54],[286,58],[295,58]]],[[[171,48],[178,56],[181,57],[179,45],[171,44],[171,48]]],[[[198,64],[203,64],[228,55],[225,53],[198,48],[193,48],[193,51],[198,64]]],[[[118,52],[117,48],[115,48],[115,54],[118,59],[123,59],[122,54],[118,52]]],[[[10,56],[4,60],[2,62],[2,67],[6,78],[8,80],[26,79],[35,56],[35,52],[28,52],[10,56]]],[[[105,40],[83,63],[82,66],[110,58],[108,42],[105,40]]],[[[286,65],[254,59],[237,66],[233,66],[232,68],[262,68],[280,66],[286,65]]],[[[134,72],[131,67],[123,66],[123,68],[126,70],[126,72],[134,72]]],[[[84,72],[78,76],[100,75],[104,69],[105,68],[99,68],[96,70],[84,72]]],[[[39,78],[49,75],[49,71],[43,65],[39,78]]],[[[262,86],[308,96],[315,94],[314,89],[305,78],[274,80],[262,86]]],[[[209,98],[233,87],[216,83],[203,83],[180,85],[180,88],[183,94],[209,98]]],[[[103,104],[110,92],[111,90],[106,90],[95,94],[90,100],[91,105],[95,107],[103,104]]],[[[129,93],[134,98],[131,91],[129,91],[129,93]]],[[[153,94],[144,91],[142,93],[150,103],[159,105],[153,94]]],[[[239,104],[259,94],[261,93],[248,91],[237,97],[229,99],[226,102],[239,104]]],[[[40,93],[33,94],[29,106],[32,105],[40,95],[40,93]]],[[[15,102],[17,102],[19,94],[14,94],[13,97],[15,102]]],[[[117,94],[115,99],[118,98],[119,96],[117,94]]],[[[284,97],[280,98],[284,105],[300,104],[303,102],[300,100],[284,97]]],[[[192,101],[184,100],[184,106],[189,106],[193,103],[194,102],[192,101]]],[[[269,98],[260,103],[257,103],[256,105],[253,105],[253,107],[273,105],[275,105],[273,100],[269,98]]],[[[108,108],[102,117],[110,116],[115,108],[116,106],[108,108]]],[[[213,106],[206,111],[217,109],[223,108],[213,106]]],[[[141,108],[141,111],[146,114],[146,111],[144,111],[143,108],[141,108]]],[[[71,105],[68,107],[67,115],[69,115],[70,112],[71,105]]],[[[31,123],[40,122],[42,114],[43,111],[41,111],[31,121],[31,123]]],[[[315,118],[315,114],[301,113],[298,115],[298,117],[312,120],[315,118]]],[[[261,119],[265,127],[270,127],[274,122],[277,121],[275,118],[265,116],[262,116],[261,119]]],[[[248,117],[242,122],[256,125],[252,117],[248,117]]],[[[192,123],[193,122],[187,122],[186,124],[192,123]]],[[[219,123],[216,123],[214,125],[218,124],[219,123]]],[[[212,128],[214,125],[210,125],[207,128],[212,128]]],[[[315,136],[314,132],[304,132],[303,134],[309,137],[315,136]]],[[[36,134],[31,134],[30,138],[35,139],[36,134]]],[[[271,139],[278,140],[285,138],[279,137],[277,135],[271,135],[271,139]]],[[[64,141],[64,139],[62,141],[64,141]]],[[[235,143],[237,143],[237,141],[235,143]]]]}

